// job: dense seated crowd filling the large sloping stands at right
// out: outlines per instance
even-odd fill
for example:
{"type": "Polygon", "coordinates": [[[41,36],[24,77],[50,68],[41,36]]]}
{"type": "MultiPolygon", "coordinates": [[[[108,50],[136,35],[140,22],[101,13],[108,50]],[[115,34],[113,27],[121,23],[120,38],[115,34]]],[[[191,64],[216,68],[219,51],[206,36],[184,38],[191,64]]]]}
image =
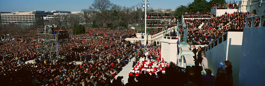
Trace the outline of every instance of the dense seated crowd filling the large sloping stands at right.
{"type": "MultiPolygon", "coordinates": [[[[225,13],[224,15],[210,19],[187,19],[184,22],[189,29],[187,43],[193,45],[210,44],[227,31],[243,31],[246,17],[253,16],[249,12],[225,13]],[[198,28],[202,24],[201,28],[198,28]]],[[[251,20],[249,20],[249,25],[251,20]]],[[[256,27],[259,26],[259,18],[255,20],[256,27]]],[[[249,26],[248,26],[249,27],[249,26]]],[[[183,34],[182,24],[179,32],[183,34]]],[[[183,37],[183,36],[182,36],[183,37]]]]}

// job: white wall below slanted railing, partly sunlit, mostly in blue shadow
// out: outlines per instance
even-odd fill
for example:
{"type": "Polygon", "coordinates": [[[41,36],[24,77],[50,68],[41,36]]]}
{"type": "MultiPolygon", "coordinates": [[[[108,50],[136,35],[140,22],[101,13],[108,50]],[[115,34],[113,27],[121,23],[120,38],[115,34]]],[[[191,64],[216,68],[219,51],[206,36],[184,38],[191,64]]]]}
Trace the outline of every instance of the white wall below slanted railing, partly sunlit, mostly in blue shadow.
{"type": "MultiPolygon", "coordinates": [[[[214,76],[217,73],[217,64],[219,62],[224,63],[224,61],[229,60],[232,62],[233,70],[233,85],[238,85],[238,73],[241,58],[241,46],[242,46],[243,32],[227,32],[227,40],[222,43],[211,47],[210,50],[205,52],[206,58],[208,59],[208,67],[212,70],[214,76]]],[[[220,40],[219,40],[220,41],[220,40]]],[[[215,42],[215,41],[214,41],[215,42]]],[[[214,43],[213,42],[213,43],[214,43]]],[[[213,44],[212,43],[212,44],[213,44]]],[[[212,46],[210,44],[209,46],[212,46]]],[[[209,47],[208,46],[208,47],[209,47]]],[[[208,47],[206,47],[208,49],[208,47]]],[[[225,63],[224,63],[225,64],[225,63]]],[[[225,68],[225,65],[223,65],[225,68]]]]}

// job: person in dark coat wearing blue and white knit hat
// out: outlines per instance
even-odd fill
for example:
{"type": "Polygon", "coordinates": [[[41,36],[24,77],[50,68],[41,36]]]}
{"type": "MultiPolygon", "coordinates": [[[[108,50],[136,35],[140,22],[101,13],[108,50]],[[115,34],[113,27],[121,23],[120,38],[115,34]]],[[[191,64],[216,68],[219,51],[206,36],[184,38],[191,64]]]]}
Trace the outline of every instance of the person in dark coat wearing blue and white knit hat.
{"type": "Polygon", "coordinates": [[[223,63],[218,63],[217,73],[216,73],[216,80],[214,85],[215,86],[224,86],[225,85],[225,79],[226,79],[226,70],[223,69],[223,63]]]}

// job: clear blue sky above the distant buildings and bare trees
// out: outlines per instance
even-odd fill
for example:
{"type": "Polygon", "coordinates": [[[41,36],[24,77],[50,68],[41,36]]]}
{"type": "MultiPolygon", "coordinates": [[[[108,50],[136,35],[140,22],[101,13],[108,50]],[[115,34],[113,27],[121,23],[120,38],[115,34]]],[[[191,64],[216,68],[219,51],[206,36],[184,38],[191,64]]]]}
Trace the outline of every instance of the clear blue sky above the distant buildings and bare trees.
{"type": "MultiPolygon", "coordinates": [[[[150,7],[153,9],[172,9],[180,5],[187,5],[189,2],[194,0],[150,0],[150,7]]],[[[206,0],[210,1],[210,0],[206,0]]],[[[239,1],[239,0],[235,0],[239,1]]],[[[29,12],[33,10],[42,11],[81,11],[82,9],[88,9],[94,0],[3,0],[0,3],[0,12],[17,12],[24,11],[29,12]]],[[[143,2],[143,0],[110,0],[111,3],[131,7],[137,3],[143,2]]]]}

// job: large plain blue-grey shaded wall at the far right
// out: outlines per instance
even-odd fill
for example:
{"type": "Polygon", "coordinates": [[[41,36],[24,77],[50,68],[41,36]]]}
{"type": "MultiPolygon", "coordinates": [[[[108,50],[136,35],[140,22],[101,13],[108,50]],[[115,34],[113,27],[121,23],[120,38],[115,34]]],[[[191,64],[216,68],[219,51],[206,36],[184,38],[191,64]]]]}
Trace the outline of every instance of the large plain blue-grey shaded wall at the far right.
{"type": "Polygon", "coordinates": [[[264,27],[244,28],[238,81],[240,86],[265,85],[264,33],[264,27]]]}

